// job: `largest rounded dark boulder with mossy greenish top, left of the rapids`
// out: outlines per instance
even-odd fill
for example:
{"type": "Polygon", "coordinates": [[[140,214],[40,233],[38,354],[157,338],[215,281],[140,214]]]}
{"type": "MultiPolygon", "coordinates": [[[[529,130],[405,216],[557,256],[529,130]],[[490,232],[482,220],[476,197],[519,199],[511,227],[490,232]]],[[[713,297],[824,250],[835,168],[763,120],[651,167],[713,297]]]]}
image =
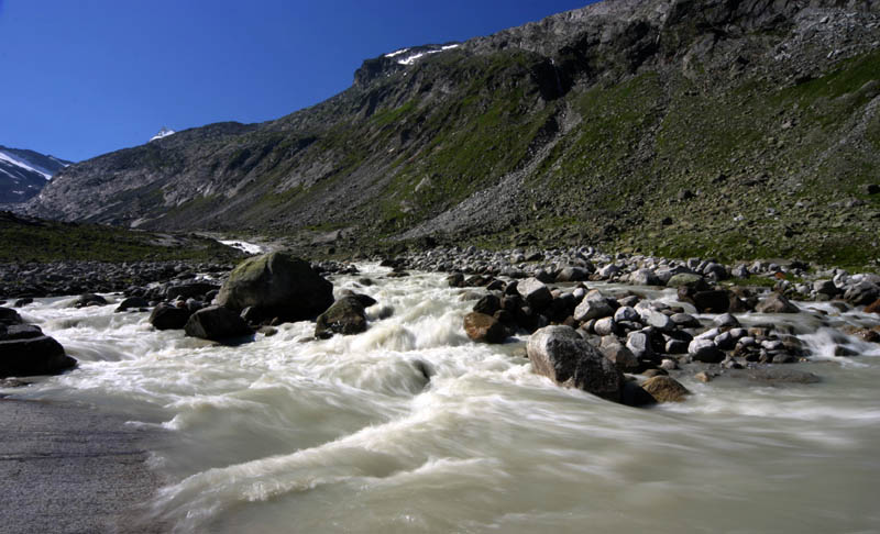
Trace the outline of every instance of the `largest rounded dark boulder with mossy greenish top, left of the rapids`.
{"type": "Polygon", "coordinates": [[[265,319],[312,319],[333,304],[333,285],[308,262],[275,252],[246,259],[223,283],[217,303],[241,312],[253,308],[265,319]]]}

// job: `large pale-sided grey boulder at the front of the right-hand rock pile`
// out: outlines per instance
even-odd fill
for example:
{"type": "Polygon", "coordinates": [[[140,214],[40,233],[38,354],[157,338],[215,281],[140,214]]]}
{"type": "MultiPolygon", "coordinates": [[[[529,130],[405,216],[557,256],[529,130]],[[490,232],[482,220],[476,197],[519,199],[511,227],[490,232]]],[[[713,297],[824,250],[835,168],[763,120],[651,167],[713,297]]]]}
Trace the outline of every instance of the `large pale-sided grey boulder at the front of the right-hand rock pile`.
{"type": "Polygon", "coordinates": [[[528,356],[535,372],[560,386],[620,401],[624,376],[571,326],[544,326],[531,334],[528,356]]]}

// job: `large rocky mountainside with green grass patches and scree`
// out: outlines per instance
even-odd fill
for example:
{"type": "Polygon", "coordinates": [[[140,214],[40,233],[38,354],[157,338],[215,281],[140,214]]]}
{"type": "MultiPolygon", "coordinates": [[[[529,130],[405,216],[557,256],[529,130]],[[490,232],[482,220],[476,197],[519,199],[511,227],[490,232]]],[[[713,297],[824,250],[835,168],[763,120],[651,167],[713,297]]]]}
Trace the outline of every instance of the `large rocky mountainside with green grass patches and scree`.
{"type": "Polygon", "coordinates": [[[605,0],[70,166],[29,212],[341,248],[871,262],[879,108],[878,0],[605,0]]]}

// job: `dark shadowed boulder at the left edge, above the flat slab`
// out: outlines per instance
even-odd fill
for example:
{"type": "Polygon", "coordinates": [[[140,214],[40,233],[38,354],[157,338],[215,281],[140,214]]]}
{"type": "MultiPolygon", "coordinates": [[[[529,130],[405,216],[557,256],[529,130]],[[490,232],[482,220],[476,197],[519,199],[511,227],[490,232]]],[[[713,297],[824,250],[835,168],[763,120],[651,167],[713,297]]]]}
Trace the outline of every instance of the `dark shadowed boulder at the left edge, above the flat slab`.
{"type": "Polygon", "coordinates": [[[0,334],[0,378],[56,375],[76,366],[76,359],[38,326],[8,325],[0,334]]]}

